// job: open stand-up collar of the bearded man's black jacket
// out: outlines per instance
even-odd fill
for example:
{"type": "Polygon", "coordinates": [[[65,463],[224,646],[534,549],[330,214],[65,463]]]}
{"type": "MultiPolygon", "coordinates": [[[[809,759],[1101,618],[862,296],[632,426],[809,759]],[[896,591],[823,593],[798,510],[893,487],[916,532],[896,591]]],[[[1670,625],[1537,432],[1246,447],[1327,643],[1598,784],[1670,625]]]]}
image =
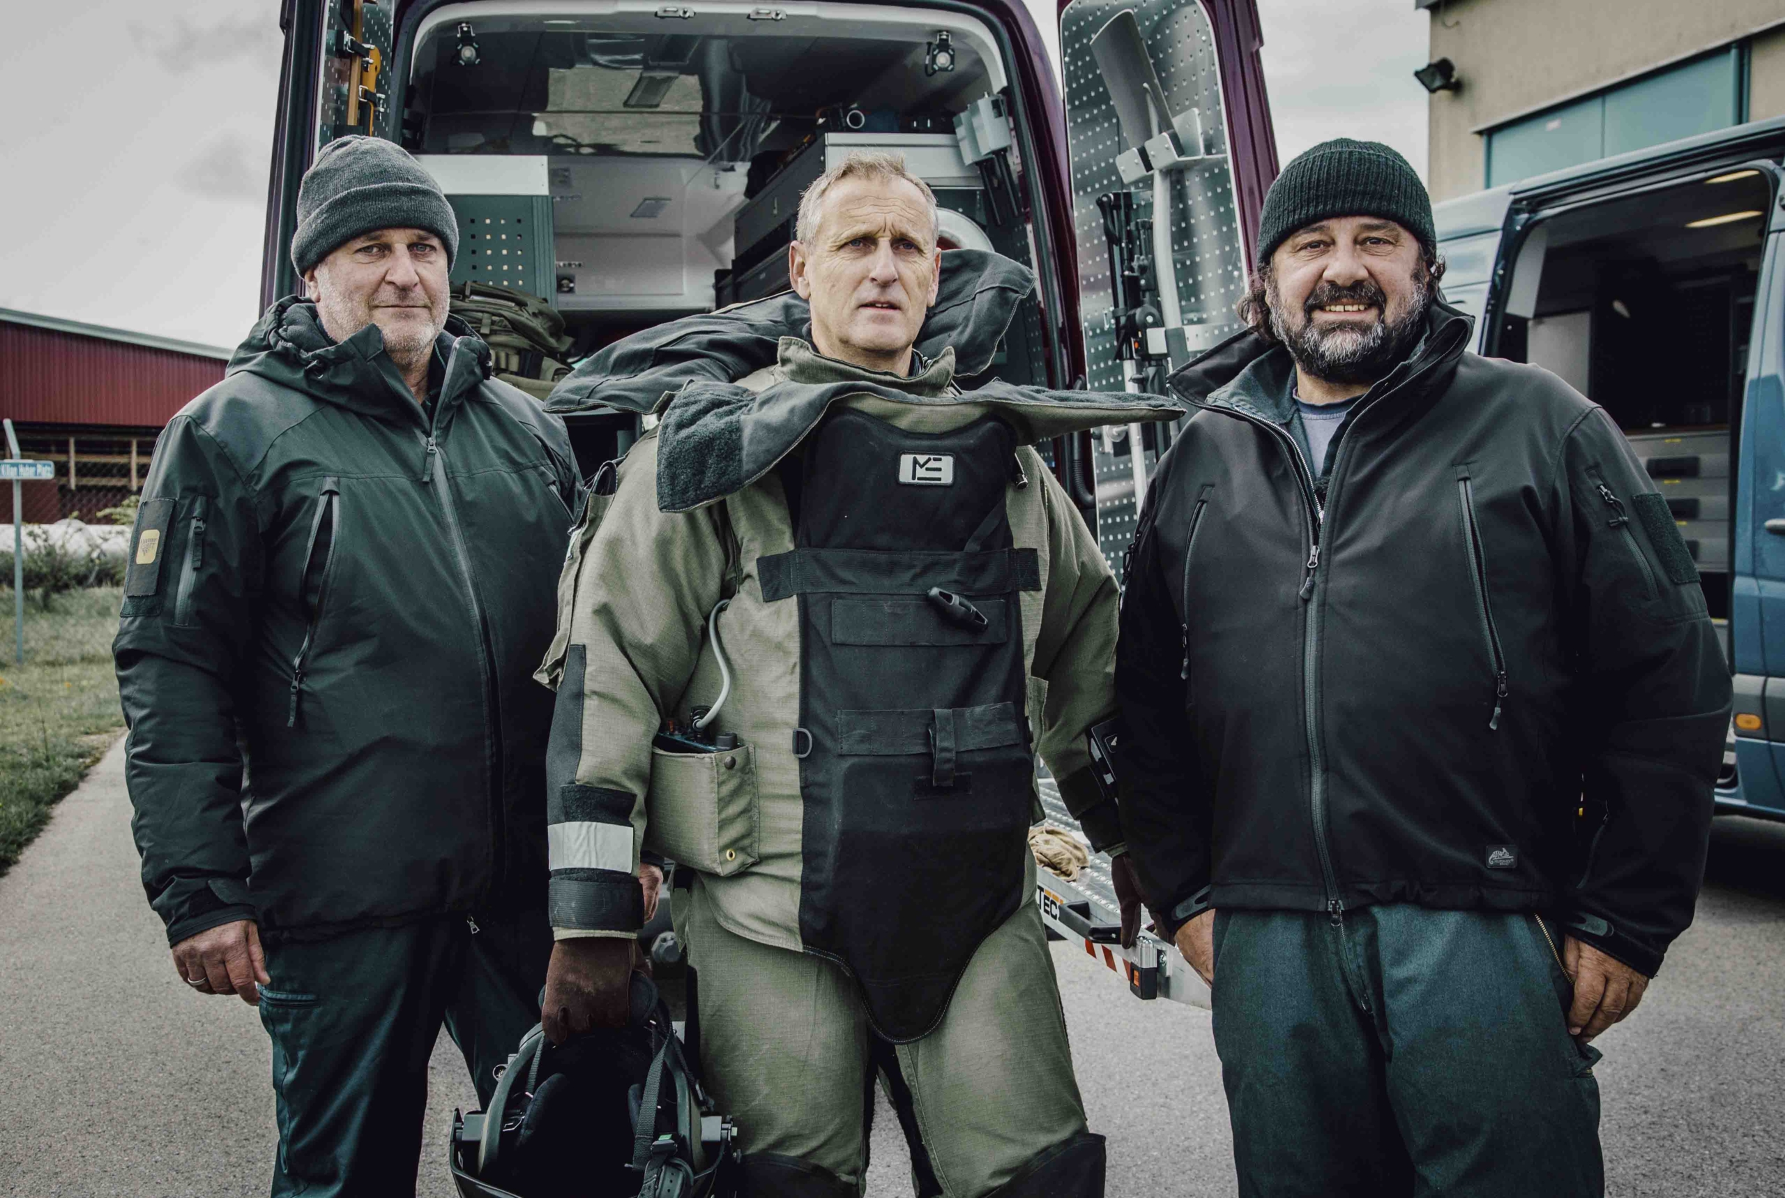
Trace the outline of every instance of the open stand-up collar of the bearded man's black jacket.
{"type": "MultiPolygon", "coordinates": [[[[1378,379],[1364,393],[1358,407],[1378,396],[1398,391],[1403,382],[1419,379],[1419,395],[1440,391],[1457,371],[1457,362],[1469,348],[1474,320],[1455,307],[1435,300],[1426,314],[1426,334],[1399,366],[1378,379]]],[[[1255,329],[1235,334],[1191,364],[1175,371],[1167,387],[1185,403],[1237,411],[1255,420],[1287,425],[1294,416],[1291,380],[1296,362],[1289,350],[1260,336],[1255,329]]]]}

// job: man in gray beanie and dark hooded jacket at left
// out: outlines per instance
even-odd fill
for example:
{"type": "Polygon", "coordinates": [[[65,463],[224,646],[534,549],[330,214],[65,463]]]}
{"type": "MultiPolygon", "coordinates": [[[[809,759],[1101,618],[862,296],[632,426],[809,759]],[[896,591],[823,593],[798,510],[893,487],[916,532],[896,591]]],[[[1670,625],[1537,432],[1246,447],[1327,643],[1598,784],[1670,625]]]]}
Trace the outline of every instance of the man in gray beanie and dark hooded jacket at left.
{"type": "Polygon", "coordinates": [[[459,227],[414,159],[328,143],[298,218],[305,295],[155,448],[114,646],[127,778],[180,982],[271,1037],[273,1194],[398,1194],[441,1025],[487,1103],[539,1021],[532,671],[578,482],[562,421],[448,316],[459,227]]]}

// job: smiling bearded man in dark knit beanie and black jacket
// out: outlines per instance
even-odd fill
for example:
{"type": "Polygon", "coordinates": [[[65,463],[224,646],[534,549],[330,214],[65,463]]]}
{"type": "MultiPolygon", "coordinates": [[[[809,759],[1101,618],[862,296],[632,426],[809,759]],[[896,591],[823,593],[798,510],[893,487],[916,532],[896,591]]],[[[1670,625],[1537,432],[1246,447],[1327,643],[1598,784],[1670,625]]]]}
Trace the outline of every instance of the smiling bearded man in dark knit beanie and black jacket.
{"type": "Polygon", "coordinates": [[[1125,839],[1242,1194],[1599,1194],[1590,1041],[1692,921],[1730,673],[1605,411],[1467,352],[1401,155],[1264,204],[1135,534],[1125,839]]]}

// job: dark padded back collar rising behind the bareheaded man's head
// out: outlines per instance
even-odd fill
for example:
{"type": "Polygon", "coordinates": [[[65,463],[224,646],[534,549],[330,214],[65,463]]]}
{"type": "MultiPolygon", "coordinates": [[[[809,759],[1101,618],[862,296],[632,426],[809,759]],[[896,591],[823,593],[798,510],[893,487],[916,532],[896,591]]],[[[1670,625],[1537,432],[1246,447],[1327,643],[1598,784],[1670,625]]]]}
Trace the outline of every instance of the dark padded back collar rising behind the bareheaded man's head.
{"type": "MultiPolygon", "coordinates": [[[[917,332],[917,354],[934,359],[953,348],[957,373],[989,370],[1017,304],[1034,289],[1035,273],[1001,254],[944,250],[941,291],[917,332]]],[[[584,359],[552,391],[546,411],[652,412],[691,380],[732,382],[773,366],[782,337],[812,337],[812,309],[793,291],[653,325],[584,359]]]]}

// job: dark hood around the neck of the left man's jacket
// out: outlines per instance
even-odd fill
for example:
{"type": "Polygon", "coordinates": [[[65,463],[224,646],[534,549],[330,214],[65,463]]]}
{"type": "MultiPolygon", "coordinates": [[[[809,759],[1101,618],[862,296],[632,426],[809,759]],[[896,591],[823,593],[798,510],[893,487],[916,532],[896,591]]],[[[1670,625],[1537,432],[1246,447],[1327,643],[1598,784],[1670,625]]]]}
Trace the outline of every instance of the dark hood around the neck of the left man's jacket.
{"type": "MultiPolygon", "coordinates": [[[[439,414],[444,416],[489,377],[489,346],[462,320],[448,316],[434,354],[444,364],[439,391],[439,414]]],[[[334,341],[323,330],[316,302],[305,296],[286,296],[266,309],[230,357],[225,377],[234,373],[259,375],[380,420],[414,420],[418,411],[403,373],[384,352],[384,332],[366,325],[334,341]]]]}

